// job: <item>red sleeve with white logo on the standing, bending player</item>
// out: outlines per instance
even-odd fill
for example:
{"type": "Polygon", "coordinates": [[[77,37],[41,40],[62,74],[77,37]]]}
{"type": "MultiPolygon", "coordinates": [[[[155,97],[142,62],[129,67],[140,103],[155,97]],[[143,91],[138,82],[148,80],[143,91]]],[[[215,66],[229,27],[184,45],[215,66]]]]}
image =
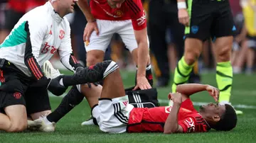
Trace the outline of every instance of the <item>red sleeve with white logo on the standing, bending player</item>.
{"type": "Polygon", "coordinates": [[[142,30],[146,28],[146,13],[142,6],[142,1],[127,0],[127,4],[132,14],[131,18],[134,30],[142,30]]]}

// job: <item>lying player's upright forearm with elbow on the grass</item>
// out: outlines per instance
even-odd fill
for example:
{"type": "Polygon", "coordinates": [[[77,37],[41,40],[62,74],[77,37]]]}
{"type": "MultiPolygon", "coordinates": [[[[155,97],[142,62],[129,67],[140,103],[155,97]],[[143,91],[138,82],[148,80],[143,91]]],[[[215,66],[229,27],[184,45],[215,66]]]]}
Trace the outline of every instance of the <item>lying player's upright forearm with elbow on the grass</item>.
{"type": "Polygon", "coordinates": [[[172,94],[171,100],[174,101],[174,105],[164,124],[164,134],[183,132],[181,125],[178,125],[178,111],[182,102],[181,93],[172,94]]]}

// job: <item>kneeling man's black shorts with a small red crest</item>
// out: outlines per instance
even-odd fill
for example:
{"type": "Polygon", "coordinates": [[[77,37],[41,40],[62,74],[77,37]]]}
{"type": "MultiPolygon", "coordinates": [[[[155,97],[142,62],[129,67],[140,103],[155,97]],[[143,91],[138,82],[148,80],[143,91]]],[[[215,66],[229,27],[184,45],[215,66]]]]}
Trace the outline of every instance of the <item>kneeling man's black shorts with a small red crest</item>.
{"type": "MultiPolygon", "coordinates": [[[[0,59],[1,61],[1,59],[0,59]]],[[[5,62],[0,69],[0,110],[9,105],[25,105],[28,115],[50,110],[46,88],[41,88],[14,64],[5,62]]]]}

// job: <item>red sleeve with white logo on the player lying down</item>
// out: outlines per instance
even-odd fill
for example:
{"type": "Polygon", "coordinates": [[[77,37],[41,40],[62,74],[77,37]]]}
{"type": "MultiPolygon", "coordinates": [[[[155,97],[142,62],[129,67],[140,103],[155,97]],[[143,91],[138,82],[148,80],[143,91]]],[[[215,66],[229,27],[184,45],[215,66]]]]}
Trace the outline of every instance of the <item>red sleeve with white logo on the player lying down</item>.
{"type": "Polygon", "coordinates": [[[178,121],[178,125],[181,125],[184,133],[195,132],[196,122],[191,117],[178,121]]]}

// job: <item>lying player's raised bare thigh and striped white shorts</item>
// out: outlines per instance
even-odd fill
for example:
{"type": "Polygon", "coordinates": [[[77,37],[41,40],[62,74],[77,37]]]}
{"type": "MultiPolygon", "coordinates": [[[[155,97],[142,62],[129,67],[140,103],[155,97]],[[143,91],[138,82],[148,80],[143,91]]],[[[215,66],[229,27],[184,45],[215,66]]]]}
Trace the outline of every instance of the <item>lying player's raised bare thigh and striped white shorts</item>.
{"type": "Polygon", "coordinates": [[[134,107],[125,96],[119,69],[106,76],[103,82],[102,94],[99,103],[92,108],[92,116],[103,132],[125,132],[129,113],[134,107]]]}

